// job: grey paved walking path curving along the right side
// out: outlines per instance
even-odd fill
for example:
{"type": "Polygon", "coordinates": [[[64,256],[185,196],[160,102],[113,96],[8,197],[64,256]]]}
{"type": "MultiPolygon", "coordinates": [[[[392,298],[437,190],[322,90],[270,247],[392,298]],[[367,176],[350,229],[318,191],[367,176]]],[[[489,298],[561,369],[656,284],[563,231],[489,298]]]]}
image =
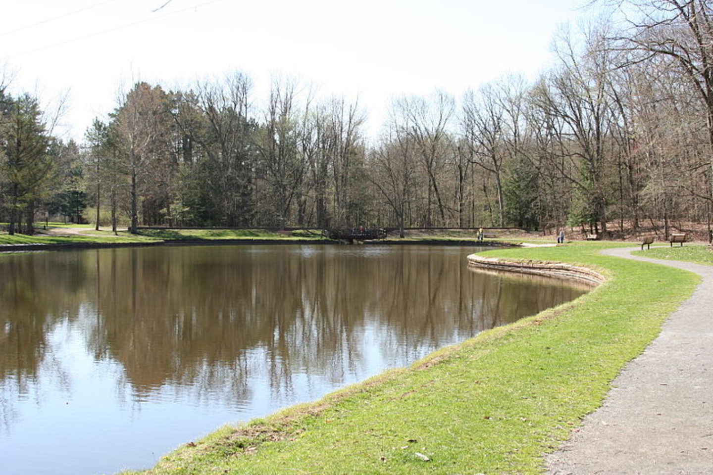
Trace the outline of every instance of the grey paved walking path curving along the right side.
{"type": "MultiPolygon", "coordinates": [[[[613,382],[604,405],[560,451],[548,474],[713,474],[713,266],[662,263],[701,275],[691,298],[613,382]]],[[[652,283],[655,285],[655,283],[652,283]]]]}

